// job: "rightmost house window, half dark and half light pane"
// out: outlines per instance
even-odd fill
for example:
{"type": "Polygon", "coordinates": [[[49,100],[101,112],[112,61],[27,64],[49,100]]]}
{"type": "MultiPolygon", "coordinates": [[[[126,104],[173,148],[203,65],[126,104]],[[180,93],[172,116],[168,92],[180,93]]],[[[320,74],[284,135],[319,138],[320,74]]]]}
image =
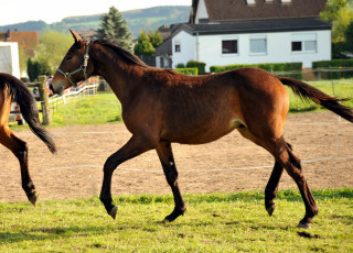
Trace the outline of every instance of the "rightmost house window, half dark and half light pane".
{"type": "Polygon", "coordinates": [[[293,34],[291,36],[291,52],[297,53],[317,53],[318,41],[317,34],[293,34]]]}

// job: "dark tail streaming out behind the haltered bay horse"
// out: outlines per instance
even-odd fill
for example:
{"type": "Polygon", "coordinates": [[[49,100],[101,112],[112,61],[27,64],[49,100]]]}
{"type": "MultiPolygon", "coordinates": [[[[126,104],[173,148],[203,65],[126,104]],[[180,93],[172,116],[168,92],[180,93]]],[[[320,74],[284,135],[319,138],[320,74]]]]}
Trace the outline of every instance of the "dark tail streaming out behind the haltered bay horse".
{"type": "Polygon", "coordinates": [[[341,105],[341,99],[331,97],[306,82],[288,77],[278,78],[284,85],[289,86],[293,92],[300,96],[302,99],[310,99],[353,123],[353,111],[351,108],[341,105]]]}

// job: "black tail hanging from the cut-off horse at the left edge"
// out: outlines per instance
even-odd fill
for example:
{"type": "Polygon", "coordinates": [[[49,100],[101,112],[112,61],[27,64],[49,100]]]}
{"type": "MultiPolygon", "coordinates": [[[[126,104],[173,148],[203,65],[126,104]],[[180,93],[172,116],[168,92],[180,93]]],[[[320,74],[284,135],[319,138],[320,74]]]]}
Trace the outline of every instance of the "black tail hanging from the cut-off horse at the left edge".
{"type": "Polygon", "coordinates": [[[0,88],[3,88],[4,84],[8,84],[10,94],[20,106],[21,114],[32,132],[45,143],[52,153],[55,153],[56,146],[54,140],[40,122],[36,102],[30,90],[18,78],[8,74],[0,74],[0,88]]]}

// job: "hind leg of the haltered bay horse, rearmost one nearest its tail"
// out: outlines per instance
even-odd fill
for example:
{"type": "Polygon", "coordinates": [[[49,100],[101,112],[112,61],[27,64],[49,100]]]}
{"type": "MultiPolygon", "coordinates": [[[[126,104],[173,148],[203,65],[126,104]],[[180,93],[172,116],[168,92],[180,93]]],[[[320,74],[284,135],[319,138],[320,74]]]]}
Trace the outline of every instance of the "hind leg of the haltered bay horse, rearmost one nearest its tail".
{"type": "MultiPolygon", "coordinates": [[[[269,143],[268,143],[269,144],[269,143]]],[[[272,153],[276,161],[284,166],[291,176],[301,194],[303,202],[306,205],[306,216],[298,224],[299,228],[309,228],[312,218],[318,215],[319,209],[317,207],[315,200],[309,185],[302,174],[300,160],[292,153],[290,146],[285,142],[284,138],[278,140],[271,146],[268,145],[268,150],[272,153]]]]}

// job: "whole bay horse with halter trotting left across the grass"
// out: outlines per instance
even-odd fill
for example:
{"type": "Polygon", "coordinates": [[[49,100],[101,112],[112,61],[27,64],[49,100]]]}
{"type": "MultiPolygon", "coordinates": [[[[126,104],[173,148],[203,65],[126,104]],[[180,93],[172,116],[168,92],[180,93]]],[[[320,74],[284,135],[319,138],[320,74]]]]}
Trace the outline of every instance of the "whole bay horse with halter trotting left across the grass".
{"type": "Polygon", "coordinates": [[[284,139],[289,110],[285,86],[353,122],[350,108],[304,82],[257,68],[192,77],[149,67],[118,45],[104,40],[87,41],[69,31],[75,42],[55,73],[51,89],[62,94],[92,75],[103,76],[119,99],[124,123],[132,134],[104,164],[99,198],[114,219],[117,207],[113,205],[111,176],[121,163],[149,150],[157,151],[174,197],[174,209],[163,220],[171,222],[186,210],[179,189],[171,143],[203,144],[237,130],[275,157],[265,190],[265,207],[269,216],[275,210],[274,199],[286,169],[297,183],[306,206],[304,218],[298,227],[309,228],[318,207],[300,160],[284,139]]]}

